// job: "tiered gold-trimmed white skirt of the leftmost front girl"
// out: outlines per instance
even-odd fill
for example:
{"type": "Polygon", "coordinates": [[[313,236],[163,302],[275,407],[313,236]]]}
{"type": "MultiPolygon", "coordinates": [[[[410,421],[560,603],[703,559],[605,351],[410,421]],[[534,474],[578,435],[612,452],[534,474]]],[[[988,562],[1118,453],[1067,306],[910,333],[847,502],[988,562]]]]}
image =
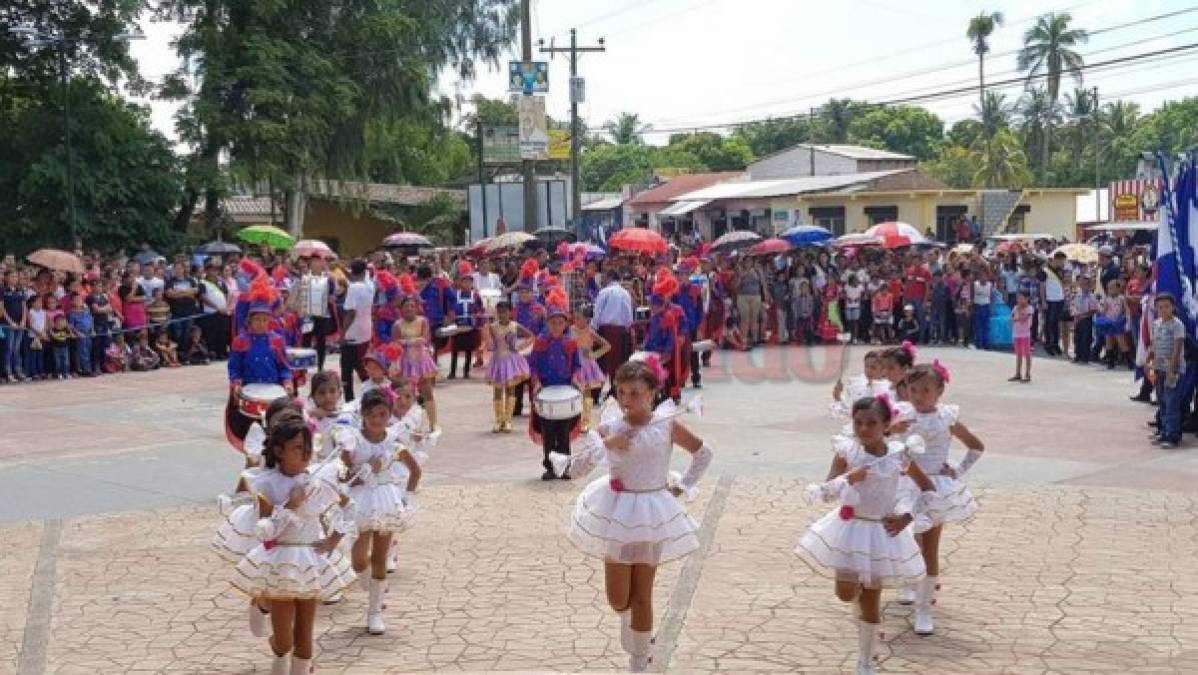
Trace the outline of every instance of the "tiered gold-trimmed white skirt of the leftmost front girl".
{"type": "Polygon", "coordinates": [[[234,569],[232,585],[268,599],[337,599],[356,578],[350,560],[334,550],[319,553],[310,544],[261,543],[234,569]]]}

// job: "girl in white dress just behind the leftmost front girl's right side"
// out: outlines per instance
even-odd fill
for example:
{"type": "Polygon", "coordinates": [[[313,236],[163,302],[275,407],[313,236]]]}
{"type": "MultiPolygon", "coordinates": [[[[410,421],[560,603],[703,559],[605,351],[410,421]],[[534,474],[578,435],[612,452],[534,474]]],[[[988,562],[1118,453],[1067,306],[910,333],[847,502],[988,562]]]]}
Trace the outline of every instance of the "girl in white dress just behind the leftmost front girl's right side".
{"type": "Polygon", "coordinates": [[[416,489],[420,480],[420,465],[412,453],[399,445],[397,434],[388,429],[391,423],[391,399],[381,390],[362,396],[362,428],[353,447],[341,453],[341,462],[350,476],[350,498],[357,506],[358,540],[353,542],[353,569],[363,574],[369,567],[365,586],[369,591],[367,605],[367,631],[381,635],[386,631],[382,620],[383,599],[387,593],[387,558],[391,538],[407,526],[409,508],[404,504],[407,490],[416,489]],[[392,464],[401,462],[407,466],[406,484],[397,484],[392,464]]]}

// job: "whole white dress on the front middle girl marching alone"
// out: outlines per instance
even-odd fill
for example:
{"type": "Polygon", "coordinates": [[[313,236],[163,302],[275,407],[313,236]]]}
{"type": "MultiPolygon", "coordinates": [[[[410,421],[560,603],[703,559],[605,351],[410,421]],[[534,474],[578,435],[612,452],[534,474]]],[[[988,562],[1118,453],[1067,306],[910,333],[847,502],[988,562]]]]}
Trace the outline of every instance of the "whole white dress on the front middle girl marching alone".
{"type": "MultiPolygon", "coordinates": [[[[648,424],[636,428],[627,451],[606,452],[610,472],[592,481],[574,507],[568,536],[582,553],[609,562],[661,565],[698,548],[698,523],[667,487],[674,410],[666,400],[648,424]]],[[[616,412],[600,423],[599,434],[631,428],[616,412]]]]}

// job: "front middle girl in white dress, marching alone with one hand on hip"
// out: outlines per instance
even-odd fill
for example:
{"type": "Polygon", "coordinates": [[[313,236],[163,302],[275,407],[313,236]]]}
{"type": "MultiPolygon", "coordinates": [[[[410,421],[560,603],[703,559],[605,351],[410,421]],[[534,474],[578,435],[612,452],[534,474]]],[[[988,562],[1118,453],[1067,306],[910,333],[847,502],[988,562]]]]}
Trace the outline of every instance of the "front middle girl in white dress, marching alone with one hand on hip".
{"type": "MultiPolygon", "coordinates": [[[[652,357],[651,357],[652,358],[652,357]]],[[[600,460],[610,474],[582,490],[569,538],[582,553],[604,561],[607,602],[621,620],[621,645],[629,668],[645,670],[653,639],[653,579],[664,562],[698,548],[698,525],[679,496],[690,493],[712,462],[712,448],[680,422],[666,400],[653,399],[665,381],[657,362],[629,361],[616,370],[616,400],[623,415],[610,415],[592,429],[589,446],[571,458],[553,454],[561,474],[585,476],[600,460]],[[679,445],[691,453],[690,468],[672,481],[670,456],[679,445]]],[[[692,494],[692,493],[691,493],[692,494]]]]}

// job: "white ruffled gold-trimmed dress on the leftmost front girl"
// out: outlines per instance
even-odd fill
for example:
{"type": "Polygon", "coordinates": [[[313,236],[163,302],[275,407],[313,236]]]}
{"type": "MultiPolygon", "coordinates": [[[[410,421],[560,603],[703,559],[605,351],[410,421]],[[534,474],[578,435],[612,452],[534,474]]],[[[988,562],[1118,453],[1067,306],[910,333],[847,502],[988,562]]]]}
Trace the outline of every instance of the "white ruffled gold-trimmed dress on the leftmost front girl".
{"type": "Polygon", "coordinates": [[[350,560],[339,550],[323,554],[315,548],[325,538],[325,523],[338,532],[352,532],[353,510],[340,506],[337,486],[309,474],[286,476],[264,469],[250,478],[249,488],[270,501],[274,512],[256,523],[258,543],[237,562],[232,585],[268,599],[338,598],[355,579],[350,560]],[[308,499],[297,510],[285,508],[291,489],[301,484],[308,499]]]}

